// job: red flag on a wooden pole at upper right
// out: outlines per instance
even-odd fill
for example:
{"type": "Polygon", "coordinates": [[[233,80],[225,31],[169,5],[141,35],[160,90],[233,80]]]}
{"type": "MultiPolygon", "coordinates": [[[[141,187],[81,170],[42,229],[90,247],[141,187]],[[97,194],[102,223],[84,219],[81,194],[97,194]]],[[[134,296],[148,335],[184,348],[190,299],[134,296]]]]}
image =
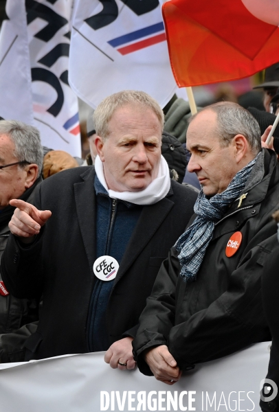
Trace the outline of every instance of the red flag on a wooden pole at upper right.
{"type": "Polygon", "coordinates": [[[179,87],[252,76],[279,61],[279,2],[170,0],[163,5],[179,87]]]}

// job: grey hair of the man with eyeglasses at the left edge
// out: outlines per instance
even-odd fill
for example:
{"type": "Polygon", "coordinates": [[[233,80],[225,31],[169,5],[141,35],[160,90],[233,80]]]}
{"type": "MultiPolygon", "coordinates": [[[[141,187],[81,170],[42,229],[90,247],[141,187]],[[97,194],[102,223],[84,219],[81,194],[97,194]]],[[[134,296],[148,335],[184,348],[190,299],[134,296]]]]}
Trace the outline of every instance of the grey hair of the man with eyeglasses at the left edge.
{"type": "MultiPolygon", "coordinates": [[[[14,142],[14,156],[19,161],[38,165],[38,175],[43,168],[43,148],[38,129],[18,120],[1,120],[0,135],[8,135],[14,142]]],[[[19,165],[24,168],[24,165],[19,165]]]]}

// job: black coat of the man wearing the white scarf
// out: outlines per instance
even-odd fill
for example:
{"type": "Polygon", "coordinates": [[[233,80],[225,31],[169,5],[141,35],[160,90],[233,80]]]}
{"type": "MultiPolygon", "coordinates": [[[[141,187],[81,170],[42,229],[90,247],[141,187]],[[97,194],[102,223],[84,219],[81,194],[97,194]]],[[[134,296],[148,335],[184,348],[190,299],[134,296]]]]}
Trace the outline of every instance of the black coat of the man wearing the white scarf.
{"type": "MultiPolygon", "coordinates": [[[[3,279],[17,297],[40,297],[33,358],[88,352],[86,328],[95,276],[96,194],[92,167],[65,170],[43,181],[34,200],[52,217],[30,247],[11,236],[3,254],[3,279]]],[[[107,308],[110,344],[135,333],[161,262],[183,233],[197,194],[175,181],[166,198],[144,206],[122,258],[107,308]],[[129,331],[129,332],[128,332],[129,331]]],[[[98,236],[98,235],[97,235],[98,236]]]]}

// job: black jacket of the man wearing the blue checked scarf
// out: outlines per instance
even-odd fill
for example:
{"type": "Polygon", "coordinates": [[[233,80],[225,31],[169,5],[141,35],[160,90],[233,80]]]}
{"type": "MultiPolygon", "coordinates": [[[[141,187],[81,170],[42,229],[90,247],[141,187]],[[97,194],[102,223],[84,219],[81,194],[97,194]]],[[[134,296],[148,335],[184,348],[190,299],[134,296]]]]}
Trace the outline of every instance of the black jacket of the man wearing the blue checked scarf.
{"type": "Polygon", "coordinates": [[[139,319],[133,341],[135,358],[144,374],[151,374],[142,352],[168,345],[181,369],[211,361],[243,347],[270,339],[260,295],[263,268],[276,233],[271,214],[279,204],[279,165],[271,150],[264,150],[265,176],[238,200],[214,229],[197,273],[186,284],[173,247],[158,273],[153,291],[139,319]],[[239,249],[227,258],[232,234],[241,231],[239,249]]]}

